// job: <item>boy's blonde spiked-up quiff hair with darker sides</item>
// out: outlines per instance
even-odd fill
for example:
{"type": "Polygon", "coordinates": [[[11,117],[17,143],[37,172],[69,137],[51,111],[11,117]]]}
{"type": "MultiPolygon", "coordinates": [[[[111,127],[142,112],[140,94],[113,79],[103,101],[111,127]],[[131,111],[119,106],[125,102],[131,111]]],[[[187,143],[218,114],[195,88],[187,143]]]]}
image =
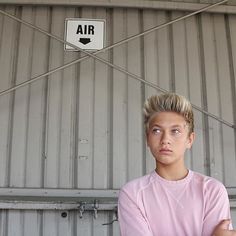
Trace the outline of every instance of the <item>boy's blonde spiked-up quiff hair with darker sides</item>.
{"type": "Polygon", "coordinates": [[[144,103],[143,113],[146,133],[153,115],[163,111],[176,112],[182,115],[187,122],[189,134],[194,131],[194,116],[191,103],[181,95],[165,93],[159,96],[153,95],[144,103]]]}

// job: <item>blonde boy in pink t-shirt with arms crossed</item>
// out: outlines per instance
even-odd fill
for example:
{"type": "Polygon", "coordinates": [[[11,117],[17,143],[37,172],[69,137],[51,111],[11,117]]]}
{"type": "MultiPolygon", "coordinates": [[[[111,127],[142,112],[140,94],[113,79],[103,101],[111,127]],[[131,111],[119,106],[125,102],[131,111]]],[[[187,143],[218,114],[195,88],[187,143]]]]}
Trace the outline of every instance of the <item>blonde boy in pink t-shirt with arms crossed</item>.
{"type": "Polygon", "coordinates": [[[121,235],[236,235],[227,229],[232,228],[228,221],[222,222],[230,219],[223,184],[184,164],[195,136],[190,102],[173,93],[152,96],[144,104],[144,122],[156,169],[120,190],[121,235]]]}

